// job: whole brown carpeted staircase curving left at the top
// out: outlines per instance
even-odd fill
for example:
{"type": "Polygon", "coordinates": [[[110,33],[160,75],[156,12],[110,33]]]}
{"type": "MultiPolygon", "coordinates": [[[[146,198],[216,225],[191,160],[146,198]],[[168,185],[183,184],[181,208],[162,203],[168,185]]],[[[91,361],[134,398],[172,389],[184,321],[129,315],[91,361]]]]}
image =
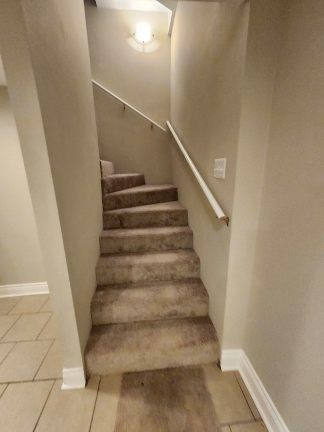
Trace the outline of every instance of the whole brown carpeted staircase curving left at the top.
{"type": "Polygon", "coordinates": [[[101,161],[103,223],[87,375],[218,361],[187,210],[173,185],[101,161]],[[110,164],[110,165],[109,165],[110,164]]]}

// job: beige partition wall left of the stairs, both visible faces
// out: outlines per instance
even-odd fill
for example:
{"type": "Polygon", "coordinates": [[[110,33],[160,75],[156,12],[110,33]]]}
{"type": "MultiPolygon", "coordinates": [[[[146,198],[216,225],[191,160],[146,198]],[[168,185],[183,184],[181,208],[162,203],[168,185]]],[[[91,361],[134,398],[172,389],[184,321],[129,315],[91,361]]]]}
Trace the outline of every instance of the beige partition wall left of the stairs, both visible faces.
{"type": "Polygon", "coordinates": [[[83,2],[0,5],[3,62],[64,367],[79,367],[91,328],[102,227],[83,2]]]}

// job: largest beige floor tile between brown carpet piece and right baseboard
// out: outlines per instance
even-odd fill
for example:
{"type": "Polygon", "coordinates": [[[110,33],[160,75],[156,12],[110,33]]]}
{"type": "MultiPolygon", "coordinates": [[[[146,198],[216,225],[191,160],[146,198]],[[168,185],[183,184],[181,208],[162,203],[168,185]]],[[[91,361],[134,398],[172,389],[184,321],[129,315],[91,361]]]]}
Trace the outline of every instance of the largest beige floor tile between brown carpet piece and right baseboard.
{"type": "Polygon", "coordinates": [[[216,365],[204,366],[204,372],[220,423],[254,420],[233,372],[222,372],[216,365]]]}

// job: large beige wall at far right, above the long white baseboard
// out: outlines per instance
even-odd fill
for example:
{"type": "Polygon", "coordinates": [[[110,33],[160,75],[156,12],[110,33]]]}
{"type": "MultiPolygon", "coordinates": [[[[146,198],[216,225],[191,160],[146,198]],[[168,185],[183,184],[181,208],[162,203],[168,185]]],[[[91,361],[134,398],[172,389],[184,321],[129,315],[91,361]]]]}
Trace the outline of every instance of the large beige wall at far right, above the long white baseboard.
{"type": "Polygon", "coordinates": [[[304,432],[324,424],[324,3],[285,5],[243,348],[304,432]]]}

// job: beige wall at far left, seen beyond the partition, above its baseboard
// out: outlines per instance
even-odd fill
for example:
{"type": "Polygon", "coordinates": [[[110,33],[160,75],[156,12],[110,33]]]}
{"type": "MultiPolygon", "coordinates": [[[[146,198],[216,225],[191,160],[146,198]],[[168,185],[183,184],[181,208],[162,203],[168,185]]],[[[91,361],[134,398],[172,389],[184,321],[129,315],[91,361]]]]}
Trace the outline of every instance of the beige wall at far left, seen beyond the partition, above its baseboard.
{"type": "Polygon", "coordinates": [[[7,87],[0,87],[0,286],[45,282],[35,218],[7,87]]]}

